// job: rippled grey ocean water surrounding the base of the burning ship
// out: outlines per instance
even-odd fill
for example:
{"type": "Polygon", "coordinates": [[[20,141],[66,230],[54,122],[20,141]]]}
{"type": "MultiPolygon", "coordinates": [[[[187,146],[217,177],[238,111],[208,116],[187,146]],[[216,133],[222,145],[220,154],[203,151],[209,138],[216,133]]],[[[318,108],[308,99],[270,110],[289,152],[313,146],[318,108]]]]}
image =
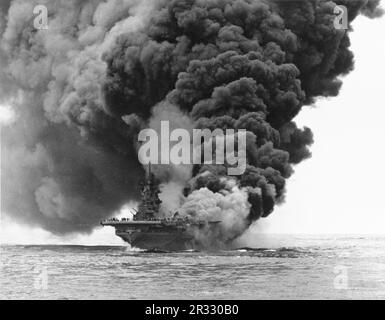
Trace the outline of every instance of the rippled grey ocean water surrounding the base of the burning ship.
{"type": "Polygon", "coordinates": [[[385,236],[260,236],[253,249],[1,246],[1,299],[384,299],[385,236]]]}

